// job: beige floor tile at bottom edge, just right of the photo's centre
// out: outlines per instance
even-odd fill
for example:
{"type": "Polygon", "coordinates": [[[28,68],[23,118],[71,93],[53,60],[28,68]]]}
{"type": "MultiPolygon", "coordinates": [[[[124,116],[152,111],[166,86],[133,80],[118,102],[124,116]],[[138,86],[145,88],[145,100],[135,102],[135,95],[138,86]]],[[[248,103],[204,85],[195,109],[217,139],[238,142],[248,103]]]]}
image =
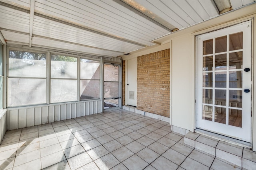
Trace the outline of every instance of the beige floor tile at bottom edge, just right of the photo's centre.
{"type": "Polygon", "coordinates": [[[129,170],[142,170],[146,168],[146,166],[148,166],[148,163],[136,154],[124,160],[122,164],[124,164],[124,166],[126,166],[126,168],[128,168],[129,170]]]}

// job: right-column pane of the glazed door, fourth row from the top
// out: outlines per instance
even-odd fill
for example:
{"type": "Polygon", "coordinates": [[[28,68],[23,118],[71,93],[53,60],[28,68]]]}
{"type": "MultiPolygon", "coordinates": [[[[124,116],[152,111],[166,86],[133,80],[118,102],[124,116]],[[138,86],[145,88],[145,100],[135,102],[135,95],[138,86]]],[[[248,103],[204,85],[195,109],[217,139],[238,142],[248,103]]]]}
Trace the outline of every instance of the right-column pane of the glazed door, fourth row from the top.
{"type": "Polygon", "coordinates": [[[229,106],[242,108],[242,90],[229,90],[229,106]]]}

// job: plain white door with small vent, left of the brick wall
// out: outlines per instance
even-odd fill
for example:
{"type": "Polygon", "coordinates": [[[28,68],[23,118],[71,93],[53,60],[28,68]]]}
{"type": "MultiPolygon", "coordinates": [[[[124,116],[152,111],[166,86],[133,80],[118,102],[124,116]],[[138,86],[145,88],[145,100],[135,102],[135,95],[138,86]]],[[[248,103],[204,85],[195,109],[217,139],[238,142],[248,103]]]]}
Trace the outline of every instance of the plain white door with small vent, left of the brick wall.
{"type": "Polygon", "coordinates": [[[127,60],[127,105],[137,106],[137,58],[127,60]]]}

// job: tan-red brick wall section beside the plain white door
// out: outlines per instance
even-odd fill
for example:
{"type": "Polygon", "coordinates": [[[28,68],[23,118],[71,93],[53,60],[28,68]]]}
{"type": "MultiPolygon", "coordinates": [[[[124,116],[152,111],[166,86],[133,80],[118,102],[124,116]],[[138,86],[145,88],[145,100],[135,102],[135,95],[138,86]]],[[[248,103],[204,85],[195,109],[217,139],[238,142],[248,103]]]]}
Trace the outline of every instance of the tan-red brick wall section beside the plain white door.
{"type": "Polygon", "coordinates": [[[137,109],[170,116],[170,49],[138,57],[137,109]]]}

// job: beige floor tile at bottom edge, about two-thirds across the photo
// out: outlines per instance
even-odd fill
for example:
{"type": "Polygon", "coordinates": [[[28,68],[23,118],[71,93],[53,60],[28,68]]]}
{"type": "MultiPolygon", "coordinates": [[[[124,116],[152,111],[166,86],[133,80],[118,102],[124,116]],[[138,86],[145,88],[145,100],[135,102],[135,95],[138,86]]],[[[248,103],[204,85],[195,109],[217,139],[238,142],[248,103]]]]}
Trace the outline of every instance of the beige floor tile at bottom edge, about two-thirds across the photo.
{"type": "Polygon", "coordinates": [[[168,170],[176,170],[178,168],[178,165],[163,156],[159,156],[159,158],[152,162],[151,165],[157,170],[165,170],[166,167],[168,167],[168,170]]]}

